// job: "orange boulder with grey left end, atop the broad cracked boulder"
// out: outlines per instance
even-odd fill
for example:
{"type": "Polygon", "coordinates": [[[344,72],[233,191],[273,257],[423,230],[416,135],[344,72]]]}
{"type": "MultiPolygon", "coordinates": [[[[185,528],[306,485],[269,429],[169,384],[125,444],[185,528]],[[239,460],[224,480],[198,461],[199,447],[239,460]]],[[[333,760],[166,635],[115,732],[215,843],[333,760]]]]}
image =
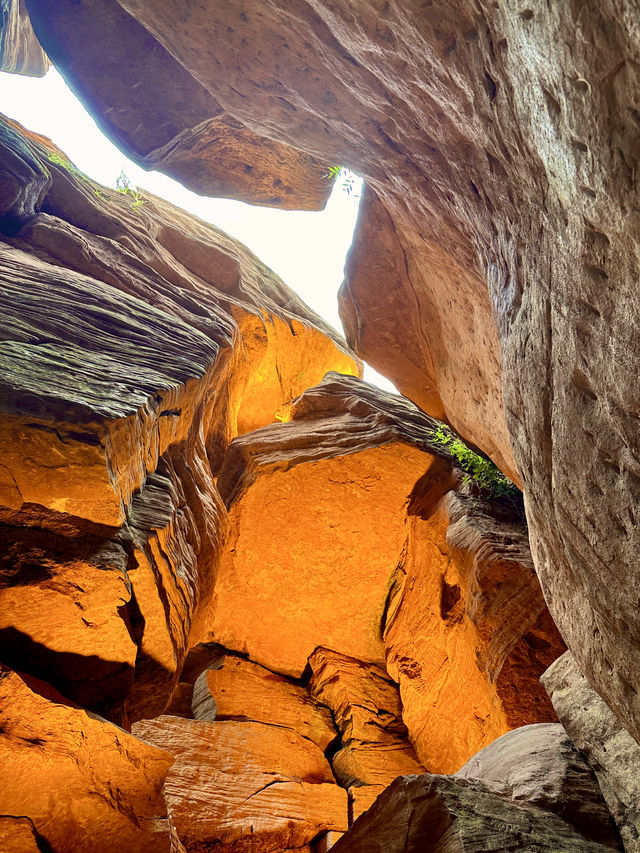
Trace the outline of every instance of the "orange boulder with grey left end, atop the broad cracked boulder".
{"type": "Polygon", "coordinates": [[[284,726],[308,738],[322,752],[337,738],[329,711],[308,691],[259,664],[226,655],[220,667],[205,670],[193,690],[196,720],[249,720],[284,726]]]}

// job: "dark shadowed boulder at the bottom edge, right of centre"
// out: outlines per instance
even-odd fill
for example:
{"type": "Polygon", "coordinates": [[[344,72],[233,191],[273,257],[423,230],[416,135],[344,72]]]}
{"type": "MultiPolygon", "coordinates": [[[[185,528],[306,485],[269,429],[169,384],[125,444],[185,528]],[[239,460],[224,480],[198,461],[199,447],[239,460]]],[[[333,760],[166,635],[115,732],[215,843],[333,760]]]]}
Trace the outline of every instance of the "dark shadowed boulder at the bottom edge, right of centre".
{"type": "Polygon", "coordinates": [[[597,853],[557,815],[453,776],[396,779],[338,841],[335,853],[597,853]]]}

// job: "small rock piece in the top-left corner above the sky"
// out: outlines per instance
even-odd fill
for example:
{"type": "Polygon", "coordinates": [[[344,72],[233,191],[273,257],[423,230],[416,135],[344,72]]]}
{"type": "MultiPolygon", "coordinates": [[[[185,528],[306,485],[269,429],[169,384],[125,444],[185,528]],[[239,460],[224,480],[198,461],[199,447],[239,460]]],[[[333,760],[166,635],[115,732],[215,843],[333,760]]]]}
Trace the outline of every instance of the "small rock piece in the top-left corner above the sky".
{"type": "Polygon", "coordinates": [[[0,71],[42,77],[48,68],[25,0],[0,0],[0,71]]]}

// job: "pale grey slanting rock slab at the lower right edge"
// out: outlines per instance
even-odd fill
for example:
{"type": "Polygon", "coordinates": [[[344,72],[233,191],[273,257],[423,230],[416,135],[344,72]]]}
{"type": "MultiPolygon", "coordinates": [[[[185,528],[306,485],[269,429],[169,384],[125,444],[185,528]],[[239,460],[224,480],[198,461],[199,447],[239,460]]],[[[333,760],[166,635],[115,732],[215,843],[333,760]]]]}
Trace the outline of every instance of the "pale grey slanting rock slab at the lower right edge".
{"type": "Polygon", "coordinates": [[[627,853],[640,850],[640,747],[578,669],[570,652],[544,673],[558,717],[595,771],[627,853]]]}

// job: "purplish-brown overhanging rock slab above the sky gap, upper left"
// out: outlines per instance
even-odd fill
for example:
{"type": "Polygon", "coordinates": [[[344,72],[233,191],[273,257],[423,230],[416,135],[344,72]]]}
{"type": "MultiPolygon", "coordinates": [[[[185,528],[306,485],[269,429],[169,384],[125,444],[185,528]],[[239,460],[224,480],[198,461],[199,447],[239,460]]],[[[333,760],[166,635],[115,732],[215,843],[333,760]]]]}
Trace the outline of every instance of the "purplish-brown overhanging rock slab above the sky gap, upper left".
{"type": "Polygon", "coordinates": [[[324,206],[331,179],[322,160],[250,130],[115,0],[26,2],[68,84],[141,166],[204,195],[324,206]]]}

